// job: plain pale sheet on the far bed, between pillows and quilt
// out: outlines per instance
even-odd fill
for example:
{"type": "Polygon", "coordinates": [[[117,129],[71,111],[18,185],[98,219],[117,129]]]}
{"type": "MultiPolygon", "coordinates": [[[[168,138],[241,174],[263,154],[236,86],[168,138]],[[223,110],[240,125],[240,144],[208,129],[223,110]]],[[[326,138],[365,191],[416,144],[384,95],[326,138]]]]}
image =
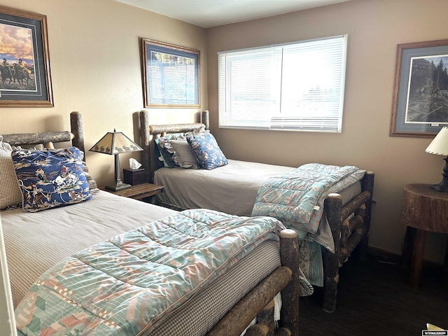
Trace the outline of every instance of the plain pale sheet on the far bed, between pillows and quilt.
{"type": "Polygon", "coordinates": [[[183,209],[212,209],[237,216],[251,216],[261,183],[295,167],[228,160],[215,169],[160,168],[154,183],[164,186],[160,202],[183,209]]]}

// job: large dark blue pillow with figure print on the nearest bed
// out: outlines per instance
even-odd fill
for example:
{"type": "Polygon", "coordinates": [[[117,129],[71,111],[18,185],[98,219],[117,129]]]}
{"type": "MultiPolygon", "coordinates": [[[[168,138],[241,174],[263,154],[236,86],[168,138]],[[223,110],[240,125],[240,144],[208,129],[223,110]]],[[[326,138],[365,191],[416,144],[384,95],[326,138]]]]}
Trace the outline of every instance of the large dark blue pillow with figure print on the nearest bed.
{"type": "Polygon", "coordinates": [[[76,147],[52,151],[20,149],[13,151],[11,158],[25,211],[62,207],[92,198],[83,172],[83,153],[76,147]]]}

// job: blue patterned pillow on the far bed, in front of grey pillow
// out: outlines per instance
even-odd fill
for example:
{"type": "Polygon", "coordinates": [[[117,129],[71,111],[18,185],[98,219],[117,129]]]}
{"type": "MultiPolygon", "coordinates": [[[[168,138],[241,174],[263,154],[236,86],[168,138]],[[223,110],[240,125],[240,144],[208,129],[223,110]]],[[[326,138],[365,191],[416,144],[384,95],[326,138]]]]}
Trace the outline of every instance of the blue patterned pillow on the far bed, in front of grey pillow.
{"type": "Polygon", "coordinates": [[[214,169],[228,164],[228,160],[212,134],[189,135],[187,141],[202,168],[214,169]]]}

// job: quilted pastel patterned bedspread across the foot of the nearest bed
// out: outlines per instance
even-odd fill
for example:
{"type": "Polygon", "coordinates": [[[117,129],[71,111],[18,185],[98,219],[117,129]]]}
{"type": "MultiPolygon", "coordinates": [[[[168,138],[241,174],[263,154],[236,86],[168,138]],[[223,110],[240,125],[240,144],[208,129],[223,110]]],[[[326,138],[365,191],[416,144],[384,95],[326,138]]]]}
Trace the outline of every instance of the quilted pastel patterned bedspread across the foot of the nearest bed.
{"type": "Polygon", "coordinates": [[[125,232],[59,262],[15,309],[19,335],[139,335],[262,241],[274,218],[195,209],[125,232]]]}

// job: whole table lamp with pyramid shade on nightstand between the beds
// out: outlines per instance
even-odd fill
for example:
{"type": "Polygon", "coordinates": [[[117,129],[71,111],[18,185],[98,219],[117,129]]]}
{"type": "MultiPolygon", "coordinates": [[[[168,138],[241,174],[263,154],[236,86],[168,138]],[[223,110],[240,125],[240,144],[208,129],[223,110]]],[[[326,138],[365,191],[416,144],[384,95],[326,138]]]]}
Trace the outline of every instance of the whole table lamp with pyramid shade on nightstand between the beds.
{"type": "Polygon", "coordinates": [[[114,129],[113,132],[107,132],[89,151],[115,155],[115,185],[105,186],[104,188],[113,191],[131,188],[130,184],[123,183],[120,179],[120,160],[118,155],[143,151],[143,148],[126,137],[122,132],[116,132],[114,129]]]}

